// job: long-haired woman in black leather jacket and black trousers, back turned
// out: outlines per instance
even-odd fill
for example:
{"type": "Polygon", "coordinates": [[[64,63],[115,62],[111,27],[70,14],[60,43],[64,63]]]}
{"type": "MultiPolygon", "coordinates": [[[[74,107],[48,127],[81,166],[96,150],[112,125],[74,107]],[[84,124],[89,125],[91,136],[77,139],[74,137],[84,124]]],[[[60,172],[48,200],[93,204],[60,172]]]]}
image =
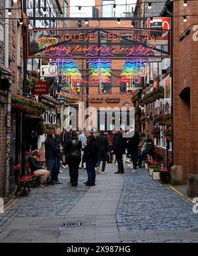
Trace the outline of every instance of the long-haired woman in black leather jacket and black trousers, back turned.
{"type": "Polygon", "coordinates": [[[78,139],[76,131],[71,132],[71,140],[68,140],[64,152],[69,165],[71,186],[78,186],[79,164],[81,163],[82,142],[78,139]]]}

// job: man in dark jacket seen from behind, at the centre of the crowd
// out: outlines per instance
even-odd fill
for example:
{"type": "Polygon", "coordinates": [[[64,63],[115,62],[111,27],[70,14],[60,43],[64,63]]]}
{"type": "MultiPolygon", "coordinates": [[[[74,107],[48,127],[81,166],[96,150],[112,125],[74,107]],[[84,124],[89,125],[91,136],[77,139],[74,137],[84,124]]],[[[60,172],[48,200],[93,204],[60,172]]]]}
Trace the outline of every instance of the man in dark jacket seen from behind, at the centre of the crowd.
{"type": "Polygon", "coordinates": [[[110,142],[108,140],[108,137],[104,135],[104,131],[100,132],[100,135],[96,137],[96,146],[98,148],[96,168],[99,171],[100,161],[102,161],[102,174],[104,174],[106,157],[110,149],[110,142]]]}

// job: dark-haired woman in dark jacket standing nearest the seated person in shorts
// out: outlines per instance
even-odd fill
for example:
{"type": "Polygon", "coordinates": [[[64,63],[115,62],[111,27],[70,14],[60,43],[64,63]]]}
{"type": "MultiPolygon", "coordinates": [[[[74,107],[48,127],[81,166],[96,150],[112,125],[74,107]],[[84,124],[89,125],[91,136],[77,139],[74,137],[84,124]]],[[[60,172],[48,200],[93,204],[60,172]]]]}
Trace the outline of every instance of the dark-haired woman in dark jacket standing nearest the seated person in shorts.
{"type": "MultiPolygon", "coordinates": [[[[53,132],[49,133],[46,142],[45,142],[45,148],[46,148],[46,162],[47,162],[47,169],[50,172],[50,175],[55,172],[56,167],[56,157],[57,157],[57,148],[55,145],[55,142],[53,140],[53,132]]],[[[54,185],[53,179],[51,179],[51,185],[54,185]]]]}

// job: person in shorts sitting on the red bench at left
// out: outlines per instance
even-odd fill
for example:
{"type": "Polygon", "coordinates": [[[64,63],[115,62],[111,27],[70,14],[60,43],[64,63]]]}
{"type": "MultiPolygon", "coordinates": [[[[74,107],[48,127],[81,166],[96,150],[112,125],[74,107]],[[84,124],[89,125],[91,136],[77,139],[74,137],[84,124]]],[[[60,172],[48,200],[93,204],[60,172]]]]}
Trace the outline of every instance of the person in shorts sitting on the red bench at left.
{"type": "Polygon", "coordinates": [[[32,157],[28,158],[28,162],[30,164],[30,170],[32,174],[40,174],[40,175],[44,175],[44,179],[42,182],[42,187],[48,187],[47,185],[47,180],[49,177],[49,171],[45,169],[44,165],[42,163],[40,163],[39,161],[37,161],[37,158],[39,157],[39,153],[38,151],[35,151],[32,154],[32,157]]]}

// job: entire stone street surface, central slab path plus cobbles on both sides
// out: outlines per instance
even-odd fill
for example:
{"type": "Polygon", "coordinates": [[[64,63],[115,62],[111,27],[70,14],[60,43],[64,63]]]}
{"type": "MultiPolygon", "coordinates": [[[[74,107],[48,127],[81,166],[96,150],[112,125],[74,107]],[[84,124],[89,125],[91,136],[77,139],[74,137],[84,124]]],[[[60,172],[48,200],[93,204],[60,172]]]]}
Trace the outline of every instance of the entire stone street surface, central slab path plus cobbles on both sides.
{"type": "Polygon", "coordinates": [[[114,171],[108,164],[96,186],[86,187],[86,170],[80,170],[76,188],[63,170],[63,185],[18,196],[0,217],[0,242],[198,242],[198,214],[189,201],[144,169],[114,171]]]}

